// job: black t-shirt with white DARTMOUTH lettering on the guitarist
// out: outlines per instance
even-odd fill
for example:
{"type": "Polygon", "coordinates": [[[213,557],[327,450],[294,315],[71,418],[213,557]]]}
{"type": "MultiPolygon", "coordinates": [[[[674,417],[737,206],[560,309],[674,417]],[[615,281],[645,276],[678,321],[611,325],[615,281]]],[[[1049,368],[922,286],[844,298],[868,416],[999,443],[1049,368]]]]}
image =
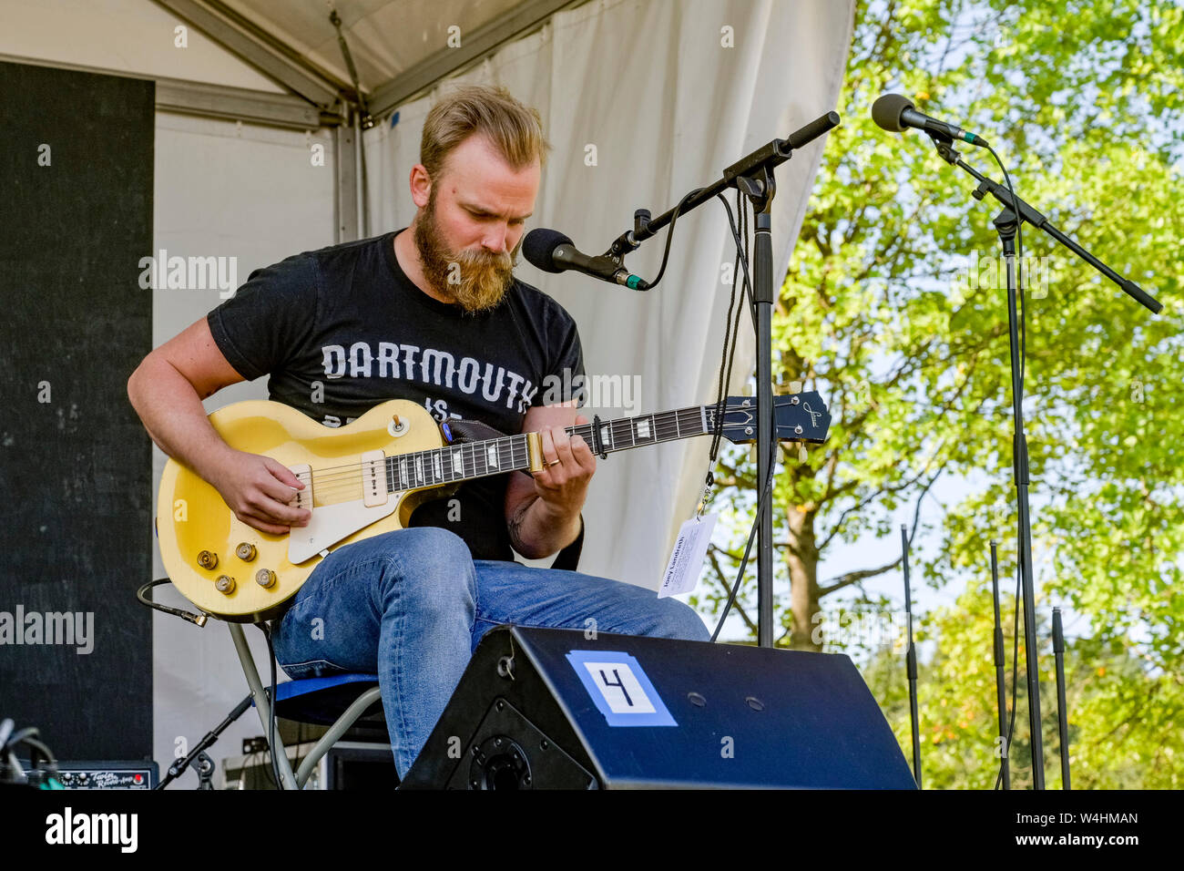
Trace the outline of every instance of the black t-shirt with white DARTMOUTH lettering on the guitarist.
{"type": "MultiPolygon", "coordinates": [[[[219,350],[247,380],[270,374],[270,399],[327,427],[387,399],[411,399],[437,421],[516,434],[532,405],[579,393],[572,384],[584,379],[580,338],[562,306],[515,278],[496,308],[465,314],[412,283],[394,236],[255,270],[207,315],[219,350]]],[[[449,520],[451,500],[436,500],[417,508],[411,525],[452,530],[476,559],[513,559],[506,483],[506,475],[469,481],[453,497],[459,521],[449,520]]]]}

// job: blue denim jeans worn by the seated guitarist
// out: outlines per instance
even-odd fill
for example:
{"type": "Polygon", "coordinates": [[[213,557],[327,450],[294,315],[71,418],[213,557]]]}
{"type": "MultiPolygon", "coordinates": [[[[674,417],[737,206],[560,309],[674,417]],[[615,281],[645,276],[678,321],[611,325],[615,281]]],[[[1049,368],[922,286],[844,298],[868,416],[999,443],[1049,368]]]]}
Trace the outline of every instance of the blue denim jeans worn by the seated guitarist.
{"type": "Polygon", "coordinates": [[[321,561],[276,629],[276,660],[291,678],[377,672],[401,779],[477,642],[502,623],[710,638],[675,598],[575,571],[472,559],[456,533],[423,526],[355,542],[321,561]]]}

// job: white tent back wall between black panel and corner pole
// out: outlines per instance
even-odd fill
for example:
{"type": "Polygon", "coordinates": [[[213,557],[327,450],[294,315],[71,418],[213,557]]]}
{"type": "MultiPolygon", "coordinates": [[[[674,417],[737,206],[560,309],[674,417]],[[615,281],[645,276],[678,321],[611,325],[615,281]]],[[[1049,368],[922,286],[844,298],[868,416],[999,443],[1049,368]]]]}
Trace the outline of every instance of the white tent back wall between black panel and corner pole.
{"type": "MultiPolygon", "coordinates": [[[[156,114],[155,251],[173,256],[229,257],[237,264],[238,287],[251,270],[297,251],[334,243],[333,135],[298,133],[253,124],[156,114]],[[313,146],[324,148],[323,166],[314,165],[313,146]]],[[[221,299],[218,289],[153,292],[153,345],[168,341],[204,318],[221,299]]],[[[130,374],[130,373],[129,373],[130,374]]],[[[207,411],[243,399],[265,399],[266,378],[236,384],[207,399],[207,411]]],[[[153,481],[160,481],[165,454],[153,447],[153,481]]],[[[156,494],[153,494],[153,511],[156,494]]],[[[150,534],[150,532],[148,533],[150,534]]],[[[153,539],[153,577],[163,577],[153,539]]],[[[159,601],[191,609],[178,594],[159,601]]],[[[246,638],[260,673],[268,662],[263,634],[246,638]]],[[[279,673],[282,674],[282,672],[279,673]]],[[[266,679],[266,678],[264,678],[266,679]]],[[[220,621],[205,628],[156,613],[153,616],[153,743],[161,774],[180,747],[192,748],[246,696],[243,668],[220,621]]],[[[259,718],[246,711],[220,738],[211,755],[237,755],[242,738],[259,735],[259,718]]],[[[187,774],[186,786],[195,781],[187,774]]]]}

